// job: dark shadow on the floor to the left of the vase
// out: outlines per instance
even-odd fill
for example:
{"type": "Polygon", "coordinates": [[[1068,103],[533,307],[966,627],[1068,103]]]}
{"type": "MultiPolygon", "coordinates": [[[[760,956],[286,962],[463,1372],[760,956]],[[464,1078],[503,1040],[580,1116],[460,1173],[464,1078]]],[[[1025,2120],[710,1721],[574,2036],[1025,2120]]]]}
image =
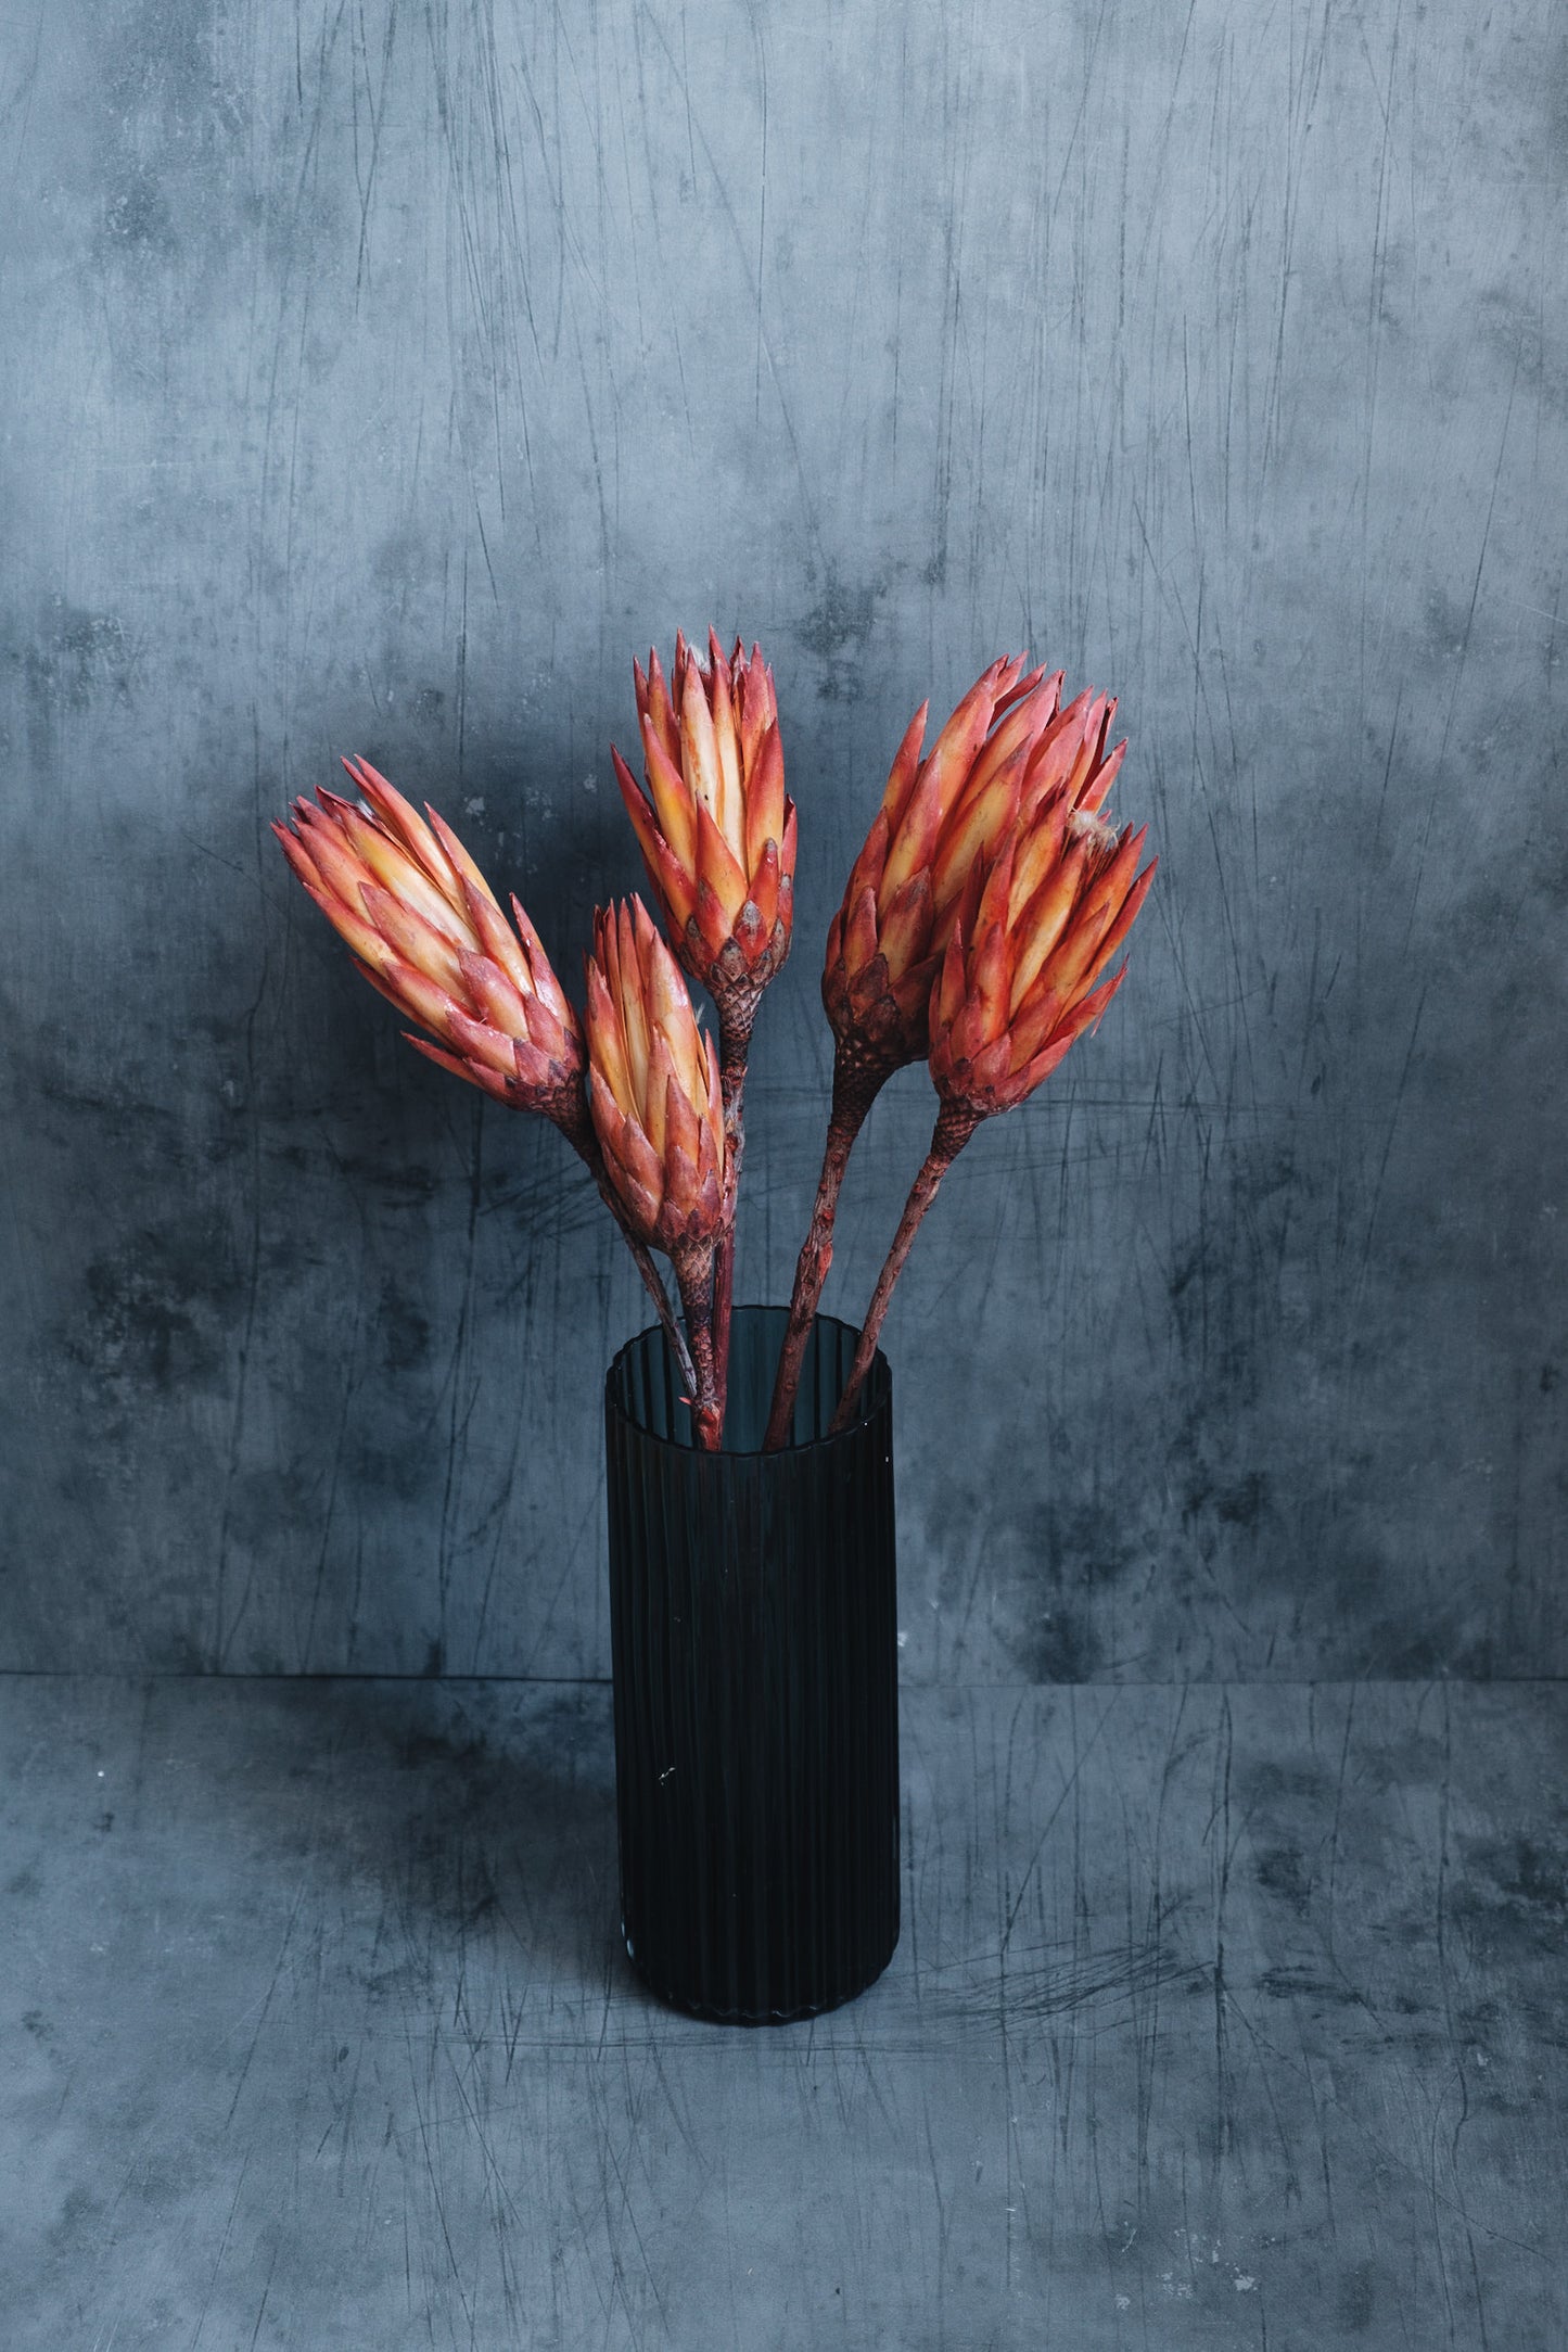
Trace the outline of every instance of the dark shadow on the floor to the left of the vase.
{"type": "MultiPolygon", "coordinates": [[[[212,1682],[186,1689],[212,1700],[212,1682]]],[[[336,1882],[339,1964],[371,2004],[454,2002],[498,2032],[531,2013],[552,2042],[602,2034],[609,2004],[668,2016],[621,1940],[609,1684],[301,1679],[226,1696],[209,1778],[226,1820],[209,1828],[320,1896],[336,1882]]]]}

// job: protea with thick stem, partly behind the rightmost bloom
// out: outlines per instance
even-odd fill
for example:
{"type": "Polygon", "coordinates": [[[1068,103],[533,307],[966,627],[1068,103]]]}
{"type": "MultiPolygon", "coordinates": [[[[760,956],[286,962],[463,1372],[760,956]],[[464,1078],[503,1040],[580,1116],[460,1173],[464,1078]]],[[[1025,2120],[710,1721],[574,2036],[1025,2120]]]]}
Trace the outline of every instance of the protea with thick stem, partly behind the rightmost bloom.
{"type": "Polygon", "coordinates": [[[1046,802],[1063,797],[1086,814],[1098,809],[1121,764],[1126,746],[1107,750],[1114,701],[1086,691],[1063,710],[1060,687],[1060,670],[1025,675],[1023,654],[992,661],[924,760],[929,703],[922,703],[851,868],[823,971],[835,1033],[832,1110],[811,1228],[795,1268],[769,1449],[790,1435],[799,1367],[832,1265],[849,1155],[889,1077],[926,1058],[931,988],[969,877],[1046,802]]]}

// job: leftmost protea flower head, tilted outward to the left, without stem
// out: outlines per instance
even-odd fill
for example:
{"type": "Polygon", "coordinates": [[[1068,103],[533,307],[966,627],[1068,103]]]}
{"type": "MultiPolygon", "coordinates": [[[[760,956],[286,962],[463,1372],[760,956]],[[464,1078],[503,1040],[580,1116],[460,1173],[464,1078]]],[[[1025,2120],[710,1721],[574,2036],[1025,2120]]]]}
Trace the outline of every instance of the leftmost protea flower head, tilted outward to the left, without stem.
{"type": "Polygon", "coordinates": [[[273,826],[327,922],[371,988],[430,1030],[409,1037],[430,1061],[517,1110],[581,1134],[583,1035],[538,931],[512,898],[517,929],[458,842],[367,760],[343,760],[362,800],[320,790],[273,826]]]}

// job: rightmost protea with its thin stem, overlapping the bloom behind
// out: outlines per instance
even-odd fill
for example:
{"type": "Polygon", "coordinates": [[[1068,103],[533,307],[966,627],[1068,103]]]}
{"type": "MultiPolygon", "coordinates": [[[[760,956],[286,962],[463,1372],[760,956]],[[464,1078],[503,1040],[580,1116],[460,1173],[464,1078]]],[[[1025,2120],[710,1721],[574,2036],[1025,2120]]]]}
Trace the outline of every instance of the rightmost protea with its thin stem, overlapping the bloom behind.
{"type": "Polygon", "coordinates": [[[943,1176],[980,1122],[1025,1103],[1121,988],[1126,964],[1110,964],[1154,880],[1157,861],[1138,870],[1145,833],[1128,826],[1117,835],[1063,783],[971,877],[929,1009],[940,1096],[931,1150],[877,1279],[832,1430],[856,1409],[893,1284],[943,1176]]]}

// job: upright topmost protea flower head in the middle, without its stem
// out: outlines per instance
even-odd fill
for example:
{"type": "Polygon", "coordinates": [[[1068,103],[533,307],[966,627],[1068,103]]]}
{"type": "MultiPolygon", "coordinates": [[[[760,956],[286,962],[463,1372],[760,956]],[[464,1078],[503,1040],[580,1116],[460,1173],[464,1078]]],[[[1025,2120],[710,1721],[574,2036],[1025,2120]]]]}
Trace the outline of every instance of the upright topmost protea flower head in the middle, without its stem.
{"type": "Polygon", "coordinates": [[[736,637],[708,630],[708,661],[675,640],[670,684],[658,654],[632,663],[646,790],[611,746],[649,884],[675,953],[724,1007],[755,997],[790,953],[795,802],[785,793],[773,673],[736,637]]]}

